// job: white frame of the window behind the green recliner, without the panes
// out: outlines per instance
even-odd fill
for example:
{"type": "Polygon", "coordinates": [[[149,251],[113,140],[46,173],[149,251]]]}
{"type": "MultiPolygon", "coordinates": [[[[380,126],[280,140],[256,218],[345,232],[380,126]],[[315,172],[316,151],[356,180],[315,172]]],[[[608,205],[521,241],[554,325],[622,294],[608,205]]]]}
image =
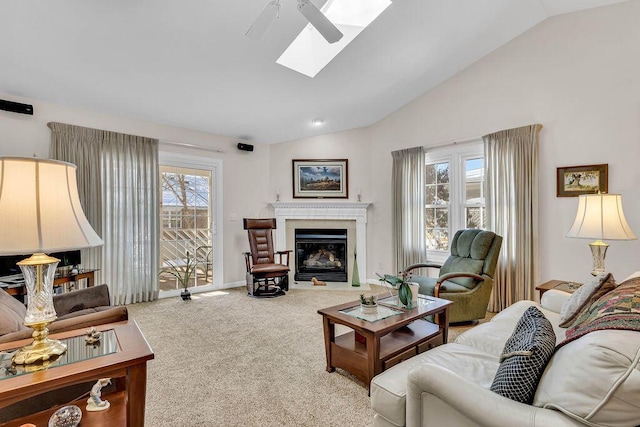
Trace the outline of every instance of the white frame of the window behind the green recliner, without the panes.
{"type": "MultiPolygon", "coordinates": [[[[484,207],[486,215],[486,203],[468,204],[466,200],[465,162],[479,157],[484,159],[484,145],[481,138],[465,143],[454,144],[453,146],[448,147],[425,147],[425,166],[432,165],[434,163],[449,162],[449,239],[453,237],[453,233],[455,231],[466,228],[467,207],[484,207]]],[[[484,173],[483,181],[485,179],[486,172],[484,173]]],[[[426,185],[427,183],[425,182],[425,192],[426,185]]],[[[486,196],[486,192],[484,190],[483,194],[486,196]]],[[[427,205],[425,200],[425,212],[427,206],[430,207],[431,205],[427,205]]],[[[449,240],[449,242],[451,242],[451,240],[449,240]]],[[[439,263],[444,262],[450,254],[449,248],[447,248],[447,250],[427,249],[426,251],[427,259],[429,261],[439,263]]]]}

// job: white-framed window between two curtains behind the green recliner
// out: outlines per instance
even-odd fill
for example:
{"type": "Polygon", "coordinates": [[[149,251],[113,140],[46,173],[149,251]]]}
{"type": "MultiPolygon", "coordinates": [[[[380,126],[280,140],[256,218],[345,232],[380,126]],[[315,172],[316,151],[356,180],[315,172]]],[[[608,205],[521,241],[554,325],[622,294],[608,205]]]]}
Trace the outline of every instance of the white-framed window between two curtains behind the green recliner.
{"type": "Polygon", "coordinates": [[[480,141],[426,154],[425,231],[429,259],[443,256],[449,236],[486,227],[484,154],[480,141]]]}

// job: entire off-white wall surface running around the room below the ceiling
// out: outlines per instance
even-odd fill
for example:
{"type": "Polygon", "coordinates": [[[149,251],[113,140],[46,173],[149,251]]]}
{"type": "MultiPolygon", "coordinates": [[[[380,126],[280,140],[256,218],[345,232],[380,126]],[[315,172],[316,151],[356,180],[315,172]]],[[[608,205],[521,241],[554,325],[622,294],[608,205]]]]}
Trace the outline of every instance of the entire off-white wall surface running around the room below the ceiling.
{"type": "MultiPolygon", "coordinates": [[[[588,241],[565,237],[577,199],[556,198],[556,167],[608,163],[609,191],[623,195],[640,235],[638,16],[640,0],[552,18],[369,128],[256,145],[253,153],[227,137],[0,94],[35,107],[33,117],[0,111],[0,154],[47,157],[49,121],[224,149],[191,152],[223,160],[225,283],[244,280],[242,218],[270,215],[276,190],[291,200],[291,160],[348,158],[349,199],[361,188],[373,202],[366,272],[374,278],[393,271],[391,151],[541,123],[540,278],[584,280],[588,241]]],[[[607,266],[618,279],[640,270],[640,242],[611,242],[607,266]]]]}

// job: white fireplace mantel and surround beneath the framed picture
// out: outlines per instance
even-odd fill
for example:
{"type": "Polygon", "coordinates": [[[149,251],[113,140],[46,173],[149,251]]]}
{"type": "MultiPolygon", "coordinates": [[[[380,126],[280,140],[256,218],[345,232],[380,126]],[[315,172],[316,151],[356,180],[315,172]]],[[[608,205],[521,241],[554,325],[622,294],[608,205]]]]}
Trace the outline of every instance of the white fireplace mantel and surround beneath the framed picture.
{"type": "Polygon", "coordinates": [[[369,202],[307,200],[271,202],[276,218],[275,244],[277,250],[286,248],[287,220],[347,220],[356,222],[356,251],[360,281],[366,281],[367,271],[367,208],[369,202]]]}

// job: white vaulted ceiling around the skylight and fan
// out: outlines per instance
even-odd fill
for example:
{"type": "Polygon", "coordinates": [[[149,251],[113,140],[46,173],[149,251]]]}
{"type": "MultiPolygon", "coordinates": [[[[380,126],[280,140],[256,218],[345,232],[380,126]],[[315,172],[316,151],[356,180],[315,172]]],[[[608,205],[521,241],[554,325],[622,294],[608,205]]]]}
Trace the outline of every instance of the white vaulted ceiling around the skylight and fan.
{"type": "Polygon", "coordinates": [[[245,37],[267,1],[3,0],[0,92],[282,142],[375,123],[549,17],[620,2],[394,0],[309,78],[275,62],[296,0],[245,37]]]}

